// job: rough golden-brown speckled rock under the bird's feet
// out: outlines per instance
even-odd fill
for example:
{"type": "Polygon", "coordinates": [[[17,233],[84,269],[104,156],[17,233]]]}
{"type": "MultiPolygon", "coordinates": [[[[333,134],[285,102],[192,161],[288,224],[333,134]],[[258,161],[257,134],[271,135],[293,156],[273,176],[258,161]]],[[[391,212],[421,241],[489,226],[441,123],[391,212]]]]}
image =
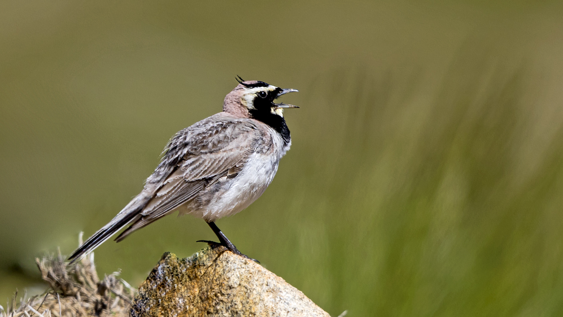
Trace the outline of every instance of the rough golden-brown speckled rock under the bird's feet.
{"type": "Polygon", "coordinates": [[[326,316],[300,290],[222,246],[164,253],[131,305],[133,317],[326,316]]]}

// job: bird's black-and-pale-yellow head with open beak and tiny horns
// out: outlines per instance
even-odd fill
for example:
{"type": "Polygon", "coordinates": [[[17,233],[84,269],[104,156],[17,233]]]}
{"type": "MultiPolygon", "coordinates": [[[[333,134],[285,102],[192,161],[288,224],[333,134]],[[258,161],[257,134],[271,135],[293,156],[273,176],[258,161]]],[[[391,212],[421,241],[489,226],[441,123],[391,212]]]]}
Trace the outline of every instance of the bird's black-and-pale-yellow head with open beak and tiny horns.
{"type": "Polygon", "coordinates": [[[237,81],[239,85],[225,96],[225,112],[260,120],[272,115],[283,118],[284,108],[299,108],[292,104],[274,102],[279,96],[298,91],[297,89],[282,89],[263,81],[243,81],[240,77],[237,81]]]}

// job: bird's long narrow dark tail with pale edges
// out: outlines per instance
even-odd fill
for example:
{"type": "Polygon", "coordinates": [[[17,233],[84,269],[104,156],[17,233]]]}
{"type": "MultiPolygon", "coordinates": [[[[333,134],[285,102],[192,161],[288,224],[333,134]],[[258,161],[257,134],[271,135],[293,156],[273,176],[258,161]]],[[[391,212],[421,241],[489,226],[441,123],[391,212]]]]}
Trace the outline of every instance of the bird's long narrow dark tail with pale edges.
{"type": "Polygon", "coordinates": [[[141,217],[141,210],[145,208],[146,204],[151,199],[151,196],[146,195],[141,192],[137,195],[127,206],[125,206],[111,221],[102,227],[100,230],[96,231],[91,237],[86,240],[78,249],[74,250],[73,254],[68,258],[70,260],[69,264],[78,261],[79,259],[86,256],[87,253],[96,249],[100,244],[104,243],[111,236],[117,233],[121,228],[127,226],[128,223],[141,217]]]}

